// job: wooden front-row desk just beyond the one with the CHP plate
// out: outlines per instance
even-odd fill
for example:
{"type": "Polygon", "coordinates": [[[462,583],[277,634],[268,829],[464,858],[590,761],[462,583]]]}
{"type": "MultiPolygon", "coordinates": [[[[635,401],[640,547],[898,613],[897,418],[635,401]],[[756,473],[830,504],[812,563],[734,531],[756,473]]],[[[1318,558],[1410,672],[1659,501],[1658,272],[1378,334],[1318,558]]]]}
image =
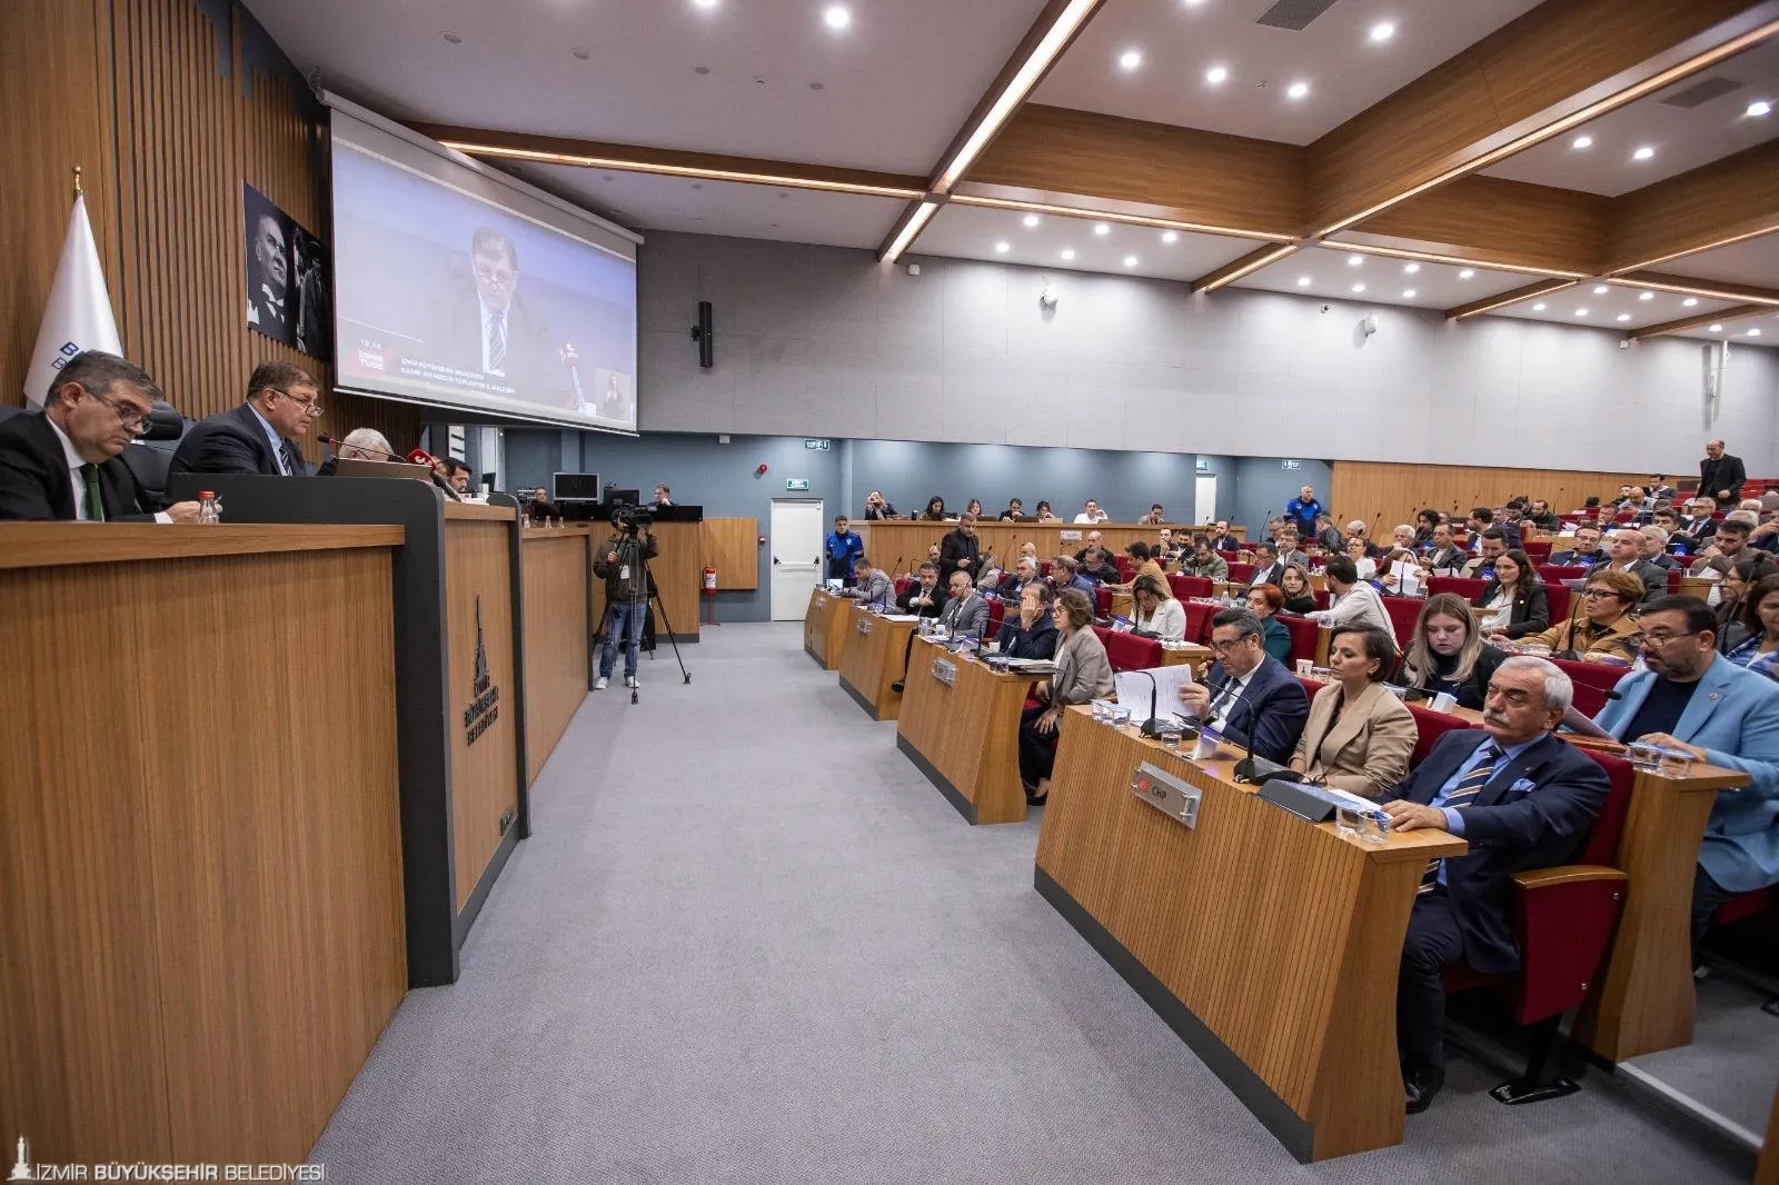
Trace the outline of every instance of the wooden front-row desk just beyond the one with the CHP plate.
{"type": "Polygon", "coordinates": [[[996,674],[914,639],[895,742],[971,824],[1025,820],[1019,713],[1030,687],[1030,674],[996,674]],[[950,664],[955,681],[941,681],[936,662],[950,664]]]}

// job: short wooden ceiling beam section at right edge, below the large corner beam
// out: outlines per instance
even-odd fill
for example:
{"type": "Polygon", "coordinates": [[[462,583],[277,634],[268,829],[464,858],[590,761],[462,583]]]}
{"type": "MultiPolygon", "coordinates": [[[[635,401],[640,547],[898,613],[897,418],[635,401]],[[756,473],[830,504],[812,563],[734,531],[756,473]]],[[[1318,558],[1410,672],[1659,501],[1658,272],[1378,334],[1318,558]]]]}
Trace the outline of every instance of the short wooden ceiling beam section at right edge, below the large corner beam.
{"type": "Polygon", "coordinates": [[[1608,274],[1779,231],[1779,141],[1646,185],[1612,205],[1608,274]]]}

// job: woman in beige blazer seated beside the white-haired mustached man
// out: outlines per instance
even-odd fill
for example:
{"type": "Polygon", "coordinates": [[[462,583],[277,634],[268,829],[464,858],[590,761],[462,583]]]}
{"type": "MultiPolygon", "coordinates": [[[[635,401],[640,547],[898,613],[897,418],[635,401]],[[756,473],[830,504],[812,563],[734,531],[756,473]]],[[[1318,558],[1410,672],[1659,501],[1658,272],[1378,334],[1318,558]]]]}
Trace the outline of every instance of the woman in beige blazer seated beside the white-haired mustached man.
{"type": "Polygon", "coordinates": [[[1336,630],[1334,680],[1309,701],[1309,721],[1292,754],[1308,781],[1382,801],[1409,776],[1414,717],[1388,687],[1397,644],[1377,628],[1336,630]]]}

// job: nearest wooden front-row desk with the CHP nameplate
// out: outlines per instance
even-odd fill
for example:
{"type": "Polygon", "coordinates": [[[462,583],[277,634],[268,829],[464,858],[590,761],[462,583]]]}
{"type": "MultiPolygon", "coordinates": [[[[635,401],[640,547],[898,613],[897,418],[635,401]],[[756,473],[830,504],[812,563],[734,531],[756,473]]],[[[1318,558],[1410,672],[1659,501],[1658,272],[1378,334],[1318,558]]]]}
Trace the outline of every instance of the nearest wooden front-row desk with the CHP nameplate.
{"type": "MultiPolygon", "coordinates": [[[[1226,749],[1228,753],[1228,749],[1226,749]]],[[[1402,1142],[1395,986],[1443,831],[1381,847],[1313,826],[1071,708],[1037,886],[1299,1160],[1402,1142]],[[1130,790],[1139,763],[1203,790],[1195,829],[1130,790]]]]}

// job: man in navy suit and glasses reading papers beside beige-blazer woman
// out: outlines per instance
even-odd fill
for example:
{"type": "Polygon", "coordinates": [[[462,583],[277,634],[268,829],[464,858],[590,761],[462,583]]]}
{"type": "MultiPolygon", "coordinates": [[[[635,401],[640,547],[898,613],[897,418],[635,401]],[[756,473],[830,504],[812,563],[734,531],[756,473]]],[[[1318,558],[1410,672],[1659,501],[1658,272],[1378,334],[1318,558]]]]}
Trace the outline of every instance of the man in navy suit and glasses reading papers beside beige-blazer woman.
{"type": "Polygon", "coordinates": [[[1245,609],[1211,617],[1217,662],[1204,683],[1179,689],[1179,703],[1226,740],[1283,765],[1309,721],[1309,696],[1263,641],[1260,617],[1245,609]]]}

